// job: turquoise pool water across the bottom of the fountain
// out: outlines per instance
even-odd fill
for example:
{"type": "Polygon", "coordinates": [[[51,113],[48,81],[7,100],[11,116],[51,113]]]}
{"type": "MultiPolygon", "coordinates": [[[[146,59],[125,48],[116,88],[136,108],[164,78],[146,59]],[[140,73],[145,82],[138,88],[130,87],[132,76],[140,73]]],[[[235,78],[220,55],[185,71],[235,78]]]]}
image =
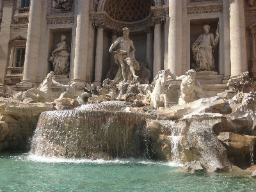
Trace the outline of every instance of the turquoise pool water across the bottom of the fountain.
{"type": "Polygon", "coordinates": [[[0,191],[256,191],[256,179],[179,164],[0,155],[0,191]]]}

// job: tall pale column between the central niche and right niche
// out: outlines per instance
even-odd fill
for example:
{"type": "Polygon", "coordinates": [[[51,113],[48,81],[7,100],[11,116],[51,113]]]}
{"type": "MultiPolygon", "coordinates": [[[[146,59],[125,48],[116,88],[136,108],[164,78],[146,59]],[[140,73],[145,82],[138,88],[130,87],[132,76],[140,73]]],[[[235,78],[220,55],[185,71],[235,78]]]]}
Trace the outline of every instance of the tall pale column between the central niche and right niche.
{"type": "Polygon", "coordinates": [[[182,1],[169,1],[168,68],[180,76],[182,69],[182,1]]]}

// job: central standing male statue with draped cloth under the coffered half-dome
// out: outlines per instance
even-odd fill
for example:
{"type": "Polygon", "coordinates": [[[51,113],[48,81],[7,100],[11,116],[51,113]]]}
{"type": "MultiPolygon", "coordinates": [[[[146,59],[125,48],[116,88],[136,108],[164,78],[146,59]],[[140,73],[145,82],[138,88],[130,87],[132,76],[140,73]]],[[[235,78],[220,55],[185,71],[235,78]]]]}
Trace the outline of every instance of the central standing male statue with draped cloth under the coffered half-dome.
{"type": "Polygon", "coordinates": [[[109,52],[113,52],[115,54],[115,63],[119,66],[113,83],[116,84],[120,81],[131,82],[133,78],[138,77],[135,75],[135,69],[140,70],[140,65],[134,58],[135,47],[132,40],[129,38],[128,28],[123,29],[123,36],[118,37],[115,42],[113,42],[109,48],[109,52]],[[119,49],[113,51],[118,44],[120,44],[119,49]],[[130,49],[132,49],[131,52],[130,49]]]}

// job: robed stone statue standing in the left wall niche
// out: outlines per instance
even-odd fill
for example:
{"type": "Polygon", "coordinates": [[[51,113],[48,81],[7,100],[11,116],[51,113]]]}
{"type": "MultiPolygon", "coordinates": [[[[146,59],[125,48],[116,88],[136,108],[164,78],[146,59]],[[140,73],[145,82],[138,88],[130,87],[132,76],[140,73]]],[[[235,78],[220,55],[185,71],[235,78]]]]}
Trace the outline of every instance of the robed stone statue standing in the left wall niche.
{"type": "Polygon", "coordinates": [[[49,61],[52,62],[54,68],[54,75],[61,75],[68,77],[69,61],[70,61],[70,47],[65,42],[66,35],[61,35],[61,42],[57,44],[57,49],[52,51],[52,56],[49,61]]]}

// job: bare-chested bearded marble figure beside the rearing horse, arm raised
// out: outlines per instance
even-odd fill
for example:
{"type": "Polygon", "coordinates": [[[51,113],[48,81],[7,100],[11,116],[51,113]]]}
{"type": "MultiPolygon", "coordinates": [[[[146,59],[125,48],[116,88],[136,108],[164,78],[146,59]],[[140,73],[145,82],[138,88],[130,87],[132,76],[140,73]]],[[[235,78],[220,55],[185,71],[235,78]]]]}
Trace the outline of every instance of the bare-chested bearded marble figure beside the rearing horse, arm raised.
{"type": "Polygon", "coordinates": [[[182,81],[180,84],[179,104],[193,102],[193,92],[196,91],[198,93],[202,93],[203,91],[200,82],[195,80],[196,71],[193,69],[188,70],[186,75],[182,75],[180,77],[175,76],[171,72],[170,76],[175,81],[182,81]]]}

